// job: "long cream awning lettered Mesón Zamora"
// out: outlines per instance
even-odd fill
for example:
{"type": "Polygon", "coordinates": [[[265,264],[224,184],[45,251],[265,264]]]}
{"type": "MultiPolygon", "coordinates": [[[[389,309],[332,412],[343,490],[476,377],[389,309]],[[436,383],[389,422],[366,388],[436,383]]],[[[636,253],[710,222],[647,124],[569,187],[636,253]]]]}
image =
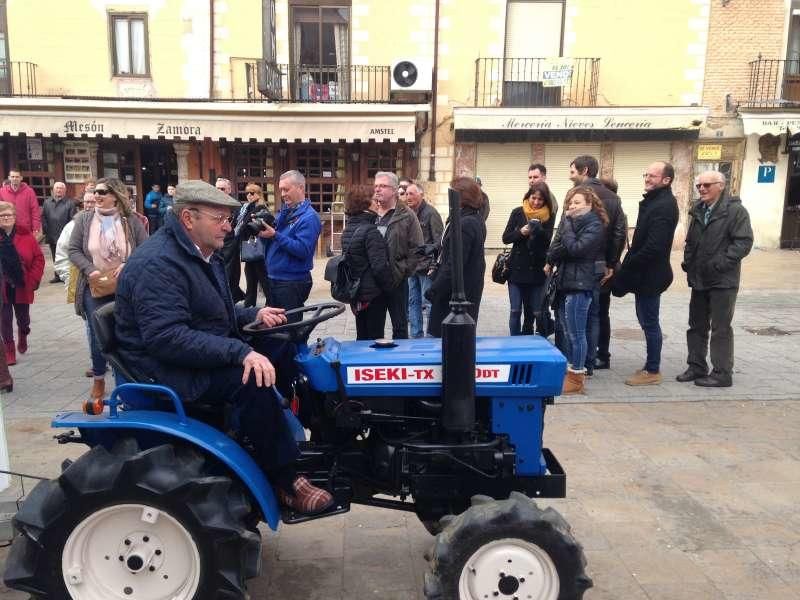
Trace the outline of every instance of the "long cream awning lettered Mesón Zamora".
{"type": "Polygon", "coordinates": [[[414,142],[427,105],[0,99],[0,133],[254,142],[414,142]]]}

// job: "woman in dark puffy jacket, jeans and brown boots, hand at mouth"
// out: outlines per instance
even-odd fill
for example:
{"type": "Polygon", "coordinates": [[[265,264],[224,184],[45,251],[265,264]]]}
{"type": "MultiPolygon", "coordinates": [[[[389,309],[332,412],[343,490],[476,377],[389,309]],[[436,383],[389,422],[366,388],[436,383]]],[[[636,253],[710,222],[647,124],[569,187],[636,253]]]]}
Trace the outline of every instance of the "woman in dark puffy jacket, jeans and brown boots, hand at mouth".
{"type": "Polygon", "coordinates": [[[564,315],[570,351],[562,394],[583,392],[586,376],[586,322],[592,294],[605,274],[605,230],[608,215],[588,187],[575,187],[564,201],[565,218],[547,253],[546,270],[557,269],[564,294],[564,315]]]}

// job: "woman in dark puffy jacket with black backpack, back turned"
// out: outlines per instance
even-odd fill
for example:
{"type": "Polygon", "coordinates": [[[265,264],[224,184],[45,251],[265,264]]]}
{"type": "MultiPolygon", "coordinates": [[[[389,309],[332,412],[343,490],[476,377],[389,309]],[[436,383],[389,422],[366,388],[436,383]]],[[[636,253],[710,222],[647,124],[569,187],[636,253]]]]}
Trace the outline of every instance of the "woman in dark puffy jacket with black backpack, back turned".
{"type": "Polygon", "coordinates": [[[356,316],[356,339],[383,337],[386,295],[392,289],[389,249],[378,231],[378,215],[371,210],[372,186],[354,185],[344,201],[347,223],[342,232],[342,254],[350,272],[361,279],[358,297],[350,304],[356,316]]]}

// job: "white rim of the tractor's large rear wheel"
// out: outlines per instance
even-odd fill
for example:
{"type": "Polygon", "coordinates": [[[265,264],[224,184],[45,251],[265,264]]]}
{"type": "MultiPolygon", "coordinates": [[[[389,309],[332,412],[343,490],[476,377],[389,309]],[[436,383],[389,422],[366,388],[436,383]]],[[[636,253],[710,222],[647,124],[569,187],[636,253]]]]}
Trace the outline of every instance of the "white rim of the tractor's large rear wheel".
{"type": "Polygon", "coordinates": [[[73,600],[191,600],[200,554],[175,518],[144,504],[117,504],[86,517],[61,554],[73,600]]]}

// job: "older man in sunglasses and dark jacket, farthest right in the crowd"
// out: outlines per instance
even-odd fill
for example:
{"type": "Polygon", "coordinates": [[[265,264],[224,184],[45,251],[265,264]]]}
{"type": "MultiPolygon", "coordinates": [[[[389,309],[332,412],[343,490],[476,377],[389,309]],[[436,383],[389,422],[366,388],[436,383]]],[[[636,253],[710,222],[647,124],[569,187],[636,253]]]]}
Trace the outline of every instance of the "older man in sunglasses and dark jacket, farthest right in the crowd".
{"type": "Polygon", "coordinates": [[[733,310],[739,293],[742,259],[753,247],[750,215],[739,198],[725,191],[725,176],[706,171],[697,177],[700,200],[689,212],[689,227],[681,267],[692,299],[686,345],[689,368],[678,381],[703,387],[733,384],[733,310]],[[711,332],[711,364],[706,355],[711,332]]]}

